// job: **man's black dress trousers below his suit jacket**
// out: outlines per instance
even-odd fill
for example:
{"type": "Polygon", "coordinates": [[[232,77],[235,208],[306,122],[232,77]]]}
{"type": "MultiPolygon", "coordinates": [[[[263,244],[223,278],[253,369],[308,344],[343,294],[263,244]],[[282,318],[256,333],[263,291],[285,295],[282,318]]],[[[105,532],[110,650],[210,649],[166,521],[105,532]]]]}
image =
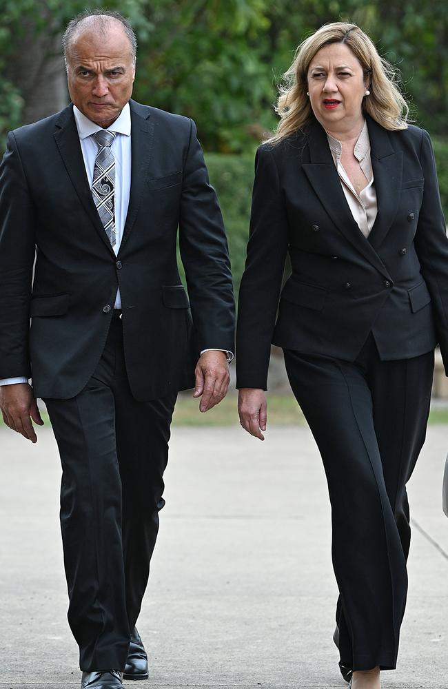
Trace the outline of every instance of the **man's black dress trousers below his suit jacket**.
{"type": "Polygon", "coordinates": [[[123,670],[165,504],[163,471],[176,395],[137,402],[121,320],[88,384],[45,399],[62,464],[61,531],[81,670],[123,670]]]}

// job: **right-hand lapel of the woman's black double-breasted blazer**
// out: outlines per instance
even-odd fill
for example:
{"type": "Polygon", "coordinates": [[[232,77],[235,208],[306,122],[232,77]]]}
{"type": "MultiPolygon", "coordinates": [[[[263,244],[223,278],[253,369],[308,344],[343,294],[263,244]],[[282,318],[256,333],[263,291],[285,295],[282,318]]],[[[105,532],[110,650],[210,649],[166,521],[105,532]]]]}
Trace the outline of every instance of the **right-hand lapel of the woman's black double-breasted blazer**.
{"type": "Polygon", "coordinates": [[[389,134],[376,121],[369,118],[367,126],[378,205],[378,214],[369,234],[369,243],[378,251],[396,216],[403,180],[403,151],[394,151],[389,134]]]}

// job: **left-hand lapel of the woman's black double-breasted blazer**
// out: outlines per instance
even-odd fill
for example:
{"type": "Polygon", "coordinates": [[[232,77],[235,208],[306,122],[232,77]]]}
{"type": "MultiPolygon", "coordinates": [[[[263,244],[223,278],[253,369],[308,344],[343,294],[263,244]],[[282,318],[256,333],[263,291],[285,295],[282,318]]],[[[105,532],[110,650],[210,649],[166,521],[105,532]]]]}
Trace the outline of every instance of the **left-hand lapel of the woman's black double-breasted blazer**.
{"type": "Polygon", "coordinates": [[[320,203],[349,243],[363,254],[369,263],[388,276],[385,265],[352,216],[329,150],[327,134],[318,123],[310,127],[307,143],[311,162],[303,163],[302,167],[320,203]]]}

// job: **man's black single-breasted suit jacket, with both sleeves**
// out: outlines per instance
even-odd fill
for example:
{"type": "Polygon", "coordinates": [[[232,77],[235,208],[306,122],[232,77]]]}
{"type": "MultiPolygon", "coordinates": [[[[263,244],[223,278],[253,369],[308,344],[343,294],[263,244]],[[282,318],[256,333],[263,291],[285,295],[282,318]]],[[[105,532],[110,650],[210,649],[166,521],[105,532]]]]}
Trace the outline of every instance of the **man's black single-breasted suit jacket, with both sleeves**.
{"type": "Polygon", "coordinates": [[[32,375],[37,397],[83,389],[101,357],[117,287],[137,400],[192,387],[202,349],[234,349],[227,241],[196,127],[134,101],[130,109],[131,192],[118,256],[92,200],[72,105],[8,138],[0,170],[0,378],[32,375]],[[178,225],[192,316],[176,265],[178,225]]]}

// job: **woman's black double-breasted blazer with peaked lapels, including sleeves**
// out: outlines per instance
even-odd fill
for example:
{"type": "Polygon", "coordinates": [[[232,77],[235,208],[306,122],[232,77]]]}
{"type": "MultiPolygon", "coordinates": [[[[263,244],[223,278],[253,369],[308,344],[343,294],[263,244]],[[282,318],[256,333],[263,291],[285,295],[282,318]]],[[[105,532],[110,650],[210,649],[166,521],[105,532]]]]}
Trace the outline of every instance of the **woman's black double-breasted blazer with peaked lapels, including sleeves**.
{"type": "Polygon", "coordinates": [[[439,342],[448,370],[448,240],[431,142],[418,127],[391,132],[369,117],[367,125],[378,200],[368,239],[317,121],[258,149],[238,387],[266,389],[271,342],[354,361],[370,332],[383,360],[439,342]],[[292,275],[281,292],[287,251],[292,275]]]}

